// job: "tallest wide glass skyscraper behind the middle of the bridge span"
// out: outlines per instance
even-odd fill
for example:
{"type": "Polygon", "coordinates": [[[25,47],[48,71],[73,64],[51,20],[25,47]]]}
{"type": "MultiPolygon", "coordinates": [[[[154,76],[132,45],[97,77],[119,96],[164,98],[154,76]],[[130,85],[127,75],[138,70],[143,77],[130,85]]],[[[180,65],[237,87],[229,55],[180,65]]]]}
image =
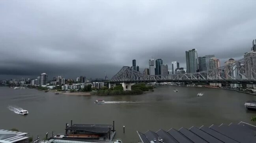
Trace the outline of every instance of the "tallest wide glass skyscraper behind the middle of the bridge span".
{"type": "Polygon", "coordinates": [[[187,73],[195,73],[198,69],[197,51],[192,49],[186,51],[187,73]]]}

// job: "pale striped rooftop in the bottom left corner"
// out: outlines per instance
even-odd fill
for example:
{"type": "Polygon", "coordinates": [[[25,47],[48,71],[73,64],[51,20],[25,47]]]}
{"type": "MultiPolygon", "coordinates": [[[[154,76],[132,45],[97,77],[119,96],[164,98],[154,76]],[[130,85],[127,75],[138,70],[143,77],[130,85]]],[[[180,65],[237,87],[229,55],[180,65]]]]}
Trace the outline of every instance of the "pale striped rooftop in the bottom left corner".
{"type": "Polygon", "coordinates": [[[12,130],[0,130],[0,143],[14,143],[27,139],[26,132],[15,132],[12,130]]]}

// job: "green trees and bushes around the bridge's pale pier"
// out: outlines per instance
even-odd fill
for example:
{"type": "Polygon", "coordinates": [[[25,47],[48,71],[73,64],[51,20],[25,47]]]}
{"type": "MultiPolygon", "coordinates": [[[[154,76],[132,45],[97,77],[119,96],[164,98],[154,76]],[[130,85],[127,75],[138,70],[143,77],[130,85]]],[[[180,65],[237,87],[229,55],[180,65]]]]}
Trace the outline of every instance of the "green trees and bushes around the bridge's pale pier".
{"type": "Polygon", "coordinates": [[[96,92],[92,92],[92,95],[139,95],[146,91],[154,91],[153,86],[146,86],[145,83],[138,83],[131,86],[131,91],[124,91],[121,84],[117,84],[115,87],[102,87],[96,92]]]}

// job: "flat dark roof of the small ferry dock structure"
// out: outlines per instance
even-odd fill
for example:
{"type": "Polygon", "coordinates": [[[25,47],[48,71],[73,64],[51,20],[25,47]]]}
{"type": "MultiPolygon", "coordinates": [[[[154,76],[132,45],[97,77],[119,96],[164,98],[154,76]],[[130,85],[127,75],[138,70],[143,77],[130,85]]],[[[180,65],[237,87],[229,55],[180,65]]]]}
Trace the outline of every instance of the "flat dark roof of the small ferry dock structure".
{"type": "Polygon", "coordinates": [[[107,133],[111,130],[112,125],[89,125],[89,124],[73,124],[65,130],[82,130],[95,133],[107,133]]]}

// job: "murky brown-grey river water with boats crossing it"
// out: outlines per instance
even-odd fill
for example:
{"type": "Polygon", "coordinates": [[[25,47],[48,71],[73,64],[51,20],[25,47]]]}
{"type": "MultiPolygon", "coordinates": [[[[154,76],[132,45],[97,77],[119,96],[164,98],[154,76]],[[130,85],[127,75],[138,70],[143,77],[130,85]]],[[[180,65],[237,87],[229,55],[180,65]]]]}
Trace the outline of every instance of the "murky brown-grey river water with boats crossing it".
{"type": "MultiPolygon", "coordinates": [[[[0,129],[19,129],[34,139],[45,133],[64,133],[65,123],[112,124],[116,138],[125,143],[137,143],[136,130],[146,132],[221,123],[252,123],[256,111],[245,109],[244,103],[256,96],[223,89],[180,86],[157,86],[154,92],[131,96],[68,95],[35,89],[0,87],[0,129]],[[179,92],[174,92],[178,89],[179,92]],[[196,96],[203,92],[203,96],[196,96]],[[95,100],[107,103],[95,104],[95,100]],[[28,110],[22,116],[8,109],[28,110]],[[125,133],[123,133],[125,126],[125,133]]],[[[252,123],[253,124],[253,123],[252,123]]],[[[254,123],[255,124],[255,123],[254,123]]]]}

